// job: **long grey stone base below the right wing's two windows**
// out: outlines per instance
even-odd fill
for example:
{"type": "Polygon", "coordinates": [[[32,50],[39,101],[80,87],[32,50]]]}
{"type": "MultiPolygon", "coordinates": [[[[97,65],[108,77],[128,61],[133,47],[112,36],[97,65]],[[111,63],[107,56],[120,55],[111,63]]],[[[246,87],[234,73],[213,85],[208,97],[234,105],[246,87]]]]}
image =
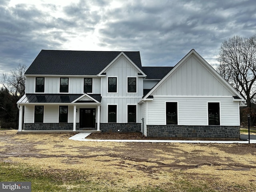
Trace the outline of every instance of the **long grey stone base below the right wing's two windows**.
{"type": "Polygon", "coordinates": [[[240,138],[240,126],[147,125],[147,137],[240,138]]]}

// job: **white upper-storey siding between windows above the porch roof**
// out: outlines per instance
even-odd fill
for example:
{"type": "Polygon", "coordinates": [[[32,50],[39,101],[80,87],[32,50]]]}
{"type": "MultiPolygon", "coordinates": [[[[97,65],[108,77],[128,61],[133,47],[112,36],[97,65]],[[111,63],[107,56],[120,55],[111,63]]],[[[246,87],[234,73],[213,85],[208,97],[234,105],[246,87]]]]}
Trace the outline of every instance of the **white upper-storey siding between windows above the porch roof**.
{"type": "MultiPolygon", "coordinates": [[[[83,77],[68,77],[69,78],[69,94],[82,94],[84,92],[83,77]]],[[[44,78],[44,93],[59,94],[60,92],[60,77],[45,77],[44,78]]],[[[26,77],[26,93],[35,93],[36,77],[26,77]]],[[[92,92],[100,94],[100,78],[92,78],[92,92]]]]}

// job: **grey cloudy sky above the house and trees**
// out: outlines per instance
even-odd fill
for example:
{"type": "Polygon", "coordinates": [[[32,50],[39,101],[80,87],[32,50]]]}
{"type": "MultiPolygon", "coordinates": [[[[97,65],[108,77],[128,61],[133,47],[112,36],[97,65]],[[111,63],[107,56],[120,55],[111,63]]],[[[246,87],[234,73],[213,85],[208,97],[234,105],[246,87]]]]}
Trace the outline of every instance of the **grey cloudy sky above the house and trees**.
{"type": "Polygon", "coordinates": [[[140,51],[143,66],[195,49],[214,65],[224,40],[255,33],[255,0],[0,0],[0,74],[42,49],[140,51]]]}

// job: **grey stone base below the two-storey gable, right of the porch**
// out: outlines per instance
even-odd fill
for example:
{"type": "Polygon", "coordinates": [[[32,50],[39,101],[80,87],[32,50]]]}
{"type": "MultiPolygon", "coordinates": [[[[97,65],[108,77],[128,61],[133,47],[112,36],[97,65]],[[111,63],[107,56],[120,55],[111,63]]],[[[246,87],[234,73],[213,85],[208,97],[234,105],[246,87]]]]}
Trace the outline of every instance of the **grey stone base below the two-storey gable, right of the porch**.
{"type": "Polygon", "coordinates": [[[101,123],[100,130],[102,133],[134,133],[140,132],[141,123],[101,123]],[[119,130],[119,131],[118,131],[119,130]]]}

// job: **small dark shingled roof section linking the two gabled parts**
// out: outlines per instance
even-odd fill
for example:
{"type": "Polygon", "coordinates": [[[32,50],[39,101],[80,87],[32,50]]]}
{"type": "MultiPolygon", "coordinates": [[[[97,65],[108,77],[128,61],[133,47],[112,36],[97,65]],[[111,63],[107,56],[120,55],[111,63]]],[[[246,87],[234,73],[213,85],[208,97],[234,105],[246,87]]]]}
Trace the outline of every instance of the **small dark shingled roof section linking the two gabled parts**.
{"type": "Polygon", "coordinates": [[[162,79],[174,67],[142,67],[142,71],[147,75],[146,79],[162,79]]]}

